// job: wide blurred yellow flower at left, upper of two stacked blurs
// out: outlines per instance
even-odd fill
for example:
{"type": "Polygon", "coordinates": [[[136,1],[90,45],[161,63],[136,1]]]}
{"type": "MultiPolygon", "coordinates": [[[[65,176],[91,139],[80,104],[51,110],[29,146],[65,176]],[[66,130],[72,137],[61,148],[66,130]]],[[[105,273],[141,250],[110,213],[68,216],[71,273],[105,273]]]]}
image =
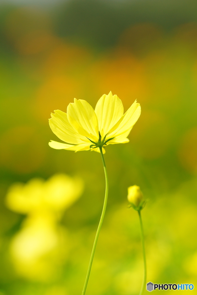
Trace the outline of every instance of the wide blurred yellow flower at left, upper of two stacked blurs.
{"type": "Polygon", "coordinates": [[[44,181],[33,178],[27,184],[14,183],[6,196],[7,207],[22,214],[62,211],[77,200],[82,192],[80,178],[56,174],[44,181]]]}

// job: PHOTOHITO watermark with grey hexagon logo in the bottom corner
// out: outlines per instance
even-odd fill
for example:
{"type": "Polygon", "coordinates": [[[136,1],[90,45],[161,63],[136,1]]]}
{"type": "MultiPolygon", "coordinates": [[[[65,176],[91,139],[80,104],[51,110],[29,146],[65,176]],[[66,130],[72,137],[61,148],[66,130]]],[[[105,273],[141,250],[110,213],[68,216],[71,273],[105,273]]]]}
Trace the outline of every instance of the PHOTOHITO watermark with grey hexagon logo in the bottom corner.
{"type": "Polygon", "coordinates": [[[146,284],[147,291],[153,290],[193,290],[193,284],[153,284],[149,282],[146,284]]]}

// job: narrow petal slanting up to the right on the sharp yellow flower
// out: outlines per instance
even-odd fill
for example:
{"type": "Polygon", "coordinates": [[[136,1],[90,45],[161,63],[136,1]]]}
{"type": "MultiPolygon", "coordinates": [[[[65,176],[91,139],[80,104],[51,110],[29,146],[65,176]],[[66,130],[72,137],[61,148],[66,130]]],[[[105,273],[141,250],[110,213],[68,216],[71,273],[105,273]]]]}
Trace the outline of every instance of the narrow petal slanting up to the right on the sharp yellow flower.
{"type": "Polygon", "coordinates": [[[132,106],[130,106],[130,108],[119,120],[119,122],[117,122],[115,126],[111,128],[110,133],[106,137],[106,139],[119,136],[127,132],[128,130],[130,130],[133,127],[133,125],[137,122],[140,114],[141,114],[140,104],[134,101],[132,106]]]}

